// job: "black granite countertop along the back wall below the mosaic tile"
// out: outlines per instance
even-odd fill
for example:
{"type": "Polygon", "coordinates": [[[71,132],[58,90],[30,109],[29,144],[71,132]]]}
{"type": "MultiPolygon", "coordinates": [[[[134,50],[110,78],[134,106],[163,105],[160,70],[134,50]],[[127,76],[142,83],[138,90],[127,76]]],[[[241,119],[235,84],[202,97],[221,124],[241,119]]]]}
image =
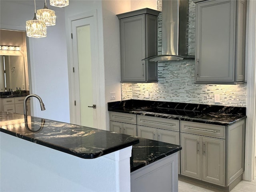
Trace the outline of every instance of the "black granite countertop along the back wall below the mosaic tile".
{"type": "Polygon", "coordinates": [[[231,125],[246,118],[245,107],[124,100],[109,102],[108,110],[191,122],[231,125]]]}

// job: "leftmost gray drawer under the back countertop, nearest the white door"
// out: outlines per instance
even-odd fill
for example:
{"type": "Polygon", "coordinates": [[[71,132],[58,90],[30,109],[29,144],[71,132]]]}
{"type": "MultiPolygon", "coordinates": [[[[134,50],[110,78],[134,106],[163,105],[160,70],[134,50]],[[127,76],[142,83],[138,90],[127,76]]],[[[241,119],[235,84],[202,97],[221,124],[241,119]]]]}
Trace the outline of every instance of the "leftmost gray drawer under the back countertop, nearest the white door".
{"type": "Polygon", "coordinates": [[[118,112],[110,112],[110,120],[136,124],[136,115],[135,114],[128,114],[128,113],[118,113],[118,112]]]}

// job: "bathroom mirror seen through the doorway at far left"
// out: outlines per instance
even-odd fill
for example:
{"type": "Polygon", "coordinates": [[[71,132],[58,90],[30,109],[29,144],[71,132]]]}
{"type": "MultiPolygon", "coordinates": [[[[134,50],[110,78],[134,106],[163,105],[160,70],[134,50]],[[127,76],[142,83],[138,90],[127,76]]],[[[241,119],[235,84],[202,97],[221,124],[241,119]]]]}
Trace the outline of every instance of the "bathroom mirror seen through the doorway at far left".
{"type": "Polygon", "coordinates": [[[16,88],[26,90],[24,57],[1,55],[0,64],[1,92],[16,88]]]}

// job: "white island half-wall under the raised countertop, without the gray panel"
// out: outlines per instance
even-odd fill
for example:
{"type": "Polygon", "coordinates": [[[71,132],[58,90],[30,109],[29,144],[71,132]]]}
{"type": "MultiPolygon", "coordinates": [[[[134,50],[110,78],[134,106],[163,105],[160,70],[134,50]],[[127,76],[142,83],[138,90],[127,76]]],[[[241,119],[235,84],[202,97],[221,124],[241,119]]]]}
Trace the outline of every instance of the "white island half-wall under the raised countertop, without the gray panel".
{"type": "Polygon", "coordinates": [[[128,192],[132,146],[83,159],[0,132],[0,191],[128,192]]]}

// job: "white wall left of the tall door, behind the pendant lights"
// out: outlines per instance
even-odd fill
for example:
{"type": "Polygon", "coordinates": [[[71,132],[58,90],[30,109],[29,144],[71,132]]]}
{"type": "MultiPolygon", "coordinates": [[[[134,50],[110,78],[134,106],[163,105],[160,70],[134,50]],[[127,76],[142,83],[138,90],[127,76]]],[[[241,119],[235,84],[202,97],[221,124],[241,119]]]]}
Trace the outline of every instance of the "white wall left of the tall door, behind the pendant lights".
{"type": "MultiPolygon", "coordinates": [[[[36,9],[44,1],[36,0],[36,9]]],[[[47,27],[46,38],[28,38],[30,93],[38,94],[46,107],[34,100],[34,116],[69,122],[68,71],[64,8],[48,5],[56,12],[56,25],[47,27]]],[[[34,17],[34,1],[0,1],[0,28],[26,31],[26,20],[34,17]]]]}

